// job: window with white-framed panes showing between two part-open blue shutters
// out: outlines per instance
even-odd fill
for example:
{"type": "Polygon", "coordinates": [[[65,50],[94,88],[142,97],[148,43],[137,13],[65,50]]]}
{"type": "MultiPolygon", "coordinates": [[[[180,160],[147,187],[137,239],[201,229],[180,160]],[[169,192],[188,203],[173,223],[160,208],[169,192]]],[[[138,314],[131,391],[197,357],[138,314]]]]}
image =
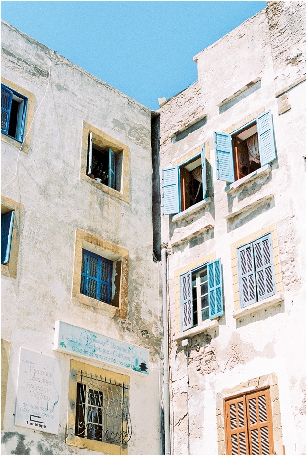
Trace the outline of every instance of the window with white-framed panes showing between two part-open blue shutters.
{"type": "Polygon", "coordinates": [[[180,276],[181,330],[223,315],[220,259],[180,276]]]}

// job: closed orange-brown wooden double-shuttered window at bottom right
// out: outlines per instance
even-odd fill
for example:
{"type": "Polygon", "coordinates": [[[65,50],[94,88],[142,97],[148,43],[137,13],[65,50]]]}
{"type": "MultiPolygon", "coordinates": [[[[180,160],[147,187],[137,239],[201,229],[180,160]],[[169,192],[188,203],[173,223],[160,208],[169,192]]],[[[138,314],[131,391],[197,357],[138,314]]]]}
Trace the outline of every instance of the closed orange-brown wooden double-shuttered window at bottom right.
{"type": "Polygon", "coordinates": [[[273,455],[269,387],[224,399],[227,455],[273,455]]]}

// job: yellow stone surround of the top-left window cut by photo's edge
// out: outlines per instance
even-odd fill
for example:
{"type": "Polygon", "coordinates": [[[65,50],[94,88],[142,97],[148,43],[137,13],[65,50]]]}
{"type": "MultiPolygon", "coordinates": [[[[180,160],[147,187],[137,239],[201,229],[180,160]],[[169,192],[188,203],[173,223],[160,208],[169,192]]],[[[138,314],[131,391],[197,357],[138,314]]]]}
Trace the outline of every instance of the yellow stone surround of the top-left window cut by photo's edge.
{"type": "Polygon", "coordinates": [[[12,89],[15,92],[18,92],[21,95],[24,95],[26,98],[28,98],[26,120],[25,120],[25,125],[24,125],[23,143],[20,143],[20,141],[17,141],[17,139],[11,138],[10,136],[7,136],[4,133],[1,133],[1,141],[5,142],[7,144],[10,144],[11,146],[16,147],[17,149],[20,149],[21,144],[22,144],[22,148],[21,148],[22,152],[29,153],[32,130],[29,133],[28,133],[28,131],[29,131],[30,125],[33,121],[33,118],[34,118],[35,95],[33,95],[31,92],[24,89],[23,87],[20,87],[20,85],[17,85],[14,82],[9,81],[2,77],[1,77],[1,83],[6,85],[9,89],[12,89]]]}

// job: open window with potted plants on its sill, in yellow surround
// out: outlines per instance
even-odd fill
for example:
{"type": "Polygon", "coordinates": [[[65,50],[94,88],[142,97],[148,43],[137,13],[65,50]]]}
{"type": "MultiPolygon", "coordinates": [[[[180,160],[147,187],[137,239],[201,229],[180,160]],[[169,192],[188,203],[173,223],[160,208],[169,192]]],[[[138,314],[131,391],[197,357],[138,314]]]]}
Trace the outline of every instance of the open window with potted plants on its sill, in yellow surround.
{"type": "MultiPolygon", "coordinates": [[[[117,188],[116,165],[117,155],[111,147],[97,146],[93,142],[93,133],[88,135],[87,174],[94,176],[98,182],[108,187],[117,188]]],[[[120,185],[118,183],[118,185],[120,185]]]]}

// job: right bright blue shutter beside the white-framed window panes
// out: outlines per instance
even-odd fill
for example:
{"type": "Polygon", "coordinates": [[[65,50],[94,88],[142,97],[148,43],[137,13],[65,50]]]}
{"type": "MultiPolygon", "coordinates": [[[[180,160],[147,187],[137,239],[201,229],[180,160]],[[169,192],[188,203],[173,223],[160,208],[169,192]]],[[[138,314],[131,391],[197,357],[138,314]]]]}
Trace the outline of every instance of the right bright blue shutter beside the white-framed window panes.
{"type": "Polygon", "coordinates": [[[214,260],[207,264],[208,291],[209,291],[209,318],[220,317],[224,314],[222,291],[221,260],[214,260]]]}

